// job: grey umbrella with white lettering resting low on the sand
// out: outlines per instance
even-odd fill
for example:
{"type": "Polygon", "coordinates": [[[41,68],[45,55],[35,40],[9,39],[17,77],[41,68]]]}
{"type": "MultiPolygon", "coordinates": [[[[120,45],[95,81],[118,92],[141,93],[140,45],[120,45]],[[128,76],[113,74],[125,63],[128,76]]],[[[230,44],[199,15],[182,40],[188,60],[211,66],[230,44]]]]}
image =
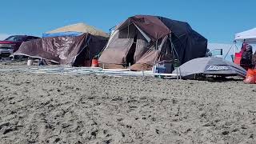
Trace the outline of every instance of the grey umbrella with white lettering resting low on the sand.
{"type": "Polygon", "coordinates": [[[174,70],[173,74],[181,74],[182,78],[194,78],[197,74],[246,77],[246,70],[223,58],[207,57],[190,60],[174,70]]]}

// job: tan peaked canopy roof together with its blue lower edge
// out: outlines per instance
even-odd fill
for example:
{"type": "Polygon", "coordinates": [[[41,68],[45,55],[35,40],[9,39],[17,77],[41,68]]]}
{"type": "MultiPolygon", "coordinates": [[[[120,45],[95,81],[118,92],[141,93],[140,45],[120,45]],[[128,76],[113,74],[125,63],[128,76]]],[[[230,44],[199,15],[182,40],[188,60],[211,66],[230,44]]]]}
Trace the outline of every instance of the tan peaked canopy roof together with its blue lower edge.
{"type": "Polygon", "coordinates": [[[94,26],[86,25],[85,23],[77,23],[70,26],[63,26],[56,30],[48,31],[42,34],[43,38],[46,37],[58,37],[58,36],[78,36],[84,33],[92,34],[99,37],[108,38],[109,34],[106,34],[102,30],[96,29],[94,26]]]}

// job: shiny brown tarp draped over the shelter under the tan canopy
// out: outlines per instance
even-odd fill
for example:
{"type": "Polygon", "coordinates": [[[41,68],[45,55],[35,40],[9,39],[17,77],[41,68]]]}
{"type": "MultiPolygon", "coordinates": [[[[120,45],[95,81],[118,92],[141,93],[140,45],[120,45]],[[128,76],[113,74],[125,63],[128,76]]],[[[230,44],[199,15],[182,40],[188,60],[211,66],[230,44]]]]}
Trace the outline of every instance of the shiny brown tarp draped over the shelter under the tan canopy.
{"type": "Polygon", "coordinates": [[[40,38],[23,42],[14,55],[43,58],[60,65],[84,66],[106,46],[107,38],[91,34],[40,38]]]}

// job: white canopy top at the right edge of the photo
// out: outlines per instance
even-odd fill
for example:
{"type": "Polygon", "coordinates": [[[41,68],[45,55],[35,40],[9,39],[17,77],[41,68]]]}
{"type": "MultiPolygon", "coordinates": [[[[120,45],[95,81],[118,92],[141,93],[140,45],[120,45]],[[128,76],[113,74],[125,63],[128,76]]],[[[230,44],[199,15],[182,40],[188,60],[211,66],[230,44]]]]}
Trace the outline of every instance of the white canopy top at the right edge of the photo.
{"type": "Polygon", "coordinates": [[[256,44],[256,28],[235,34],[235,41],[256,44]]]}

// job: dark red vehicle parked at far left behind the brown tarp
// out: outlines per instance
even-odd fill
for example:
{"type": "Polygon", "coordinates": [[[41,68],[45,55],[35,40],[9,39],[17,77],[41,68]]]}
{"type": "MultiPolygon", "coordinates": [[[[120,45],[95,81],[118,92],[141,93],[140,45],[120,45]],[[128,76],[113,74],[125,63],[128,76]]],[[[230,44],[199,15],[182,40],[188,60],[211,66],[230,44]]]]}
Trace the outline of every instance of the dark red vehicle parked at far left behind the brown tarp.
{"type": "Polygon", "coordinates": [[[0,58],[9,57],[18,50],[22,42],[38,39],[38,37],[28,35],[12,35],[3,41],[0,41],[0,58]]]}

